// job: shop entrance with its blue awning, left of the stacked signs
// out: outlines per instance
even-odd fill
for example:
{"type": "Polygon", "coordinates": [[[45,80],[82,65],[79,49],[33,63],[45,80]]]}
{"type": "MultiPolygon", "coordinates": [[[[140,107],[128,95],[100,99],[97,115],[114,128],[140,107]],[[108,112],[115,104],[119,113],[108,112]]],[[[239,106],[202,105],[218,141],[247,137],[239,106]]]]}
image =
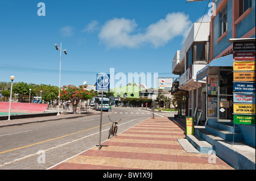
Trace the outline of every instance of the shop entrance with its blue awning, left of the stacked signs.
{"type": "Polygon", "coordinates": [[[233,54],[217,58],[197,72],[197,81],[205,77],[207,120],[233,122],[233,54]]]}

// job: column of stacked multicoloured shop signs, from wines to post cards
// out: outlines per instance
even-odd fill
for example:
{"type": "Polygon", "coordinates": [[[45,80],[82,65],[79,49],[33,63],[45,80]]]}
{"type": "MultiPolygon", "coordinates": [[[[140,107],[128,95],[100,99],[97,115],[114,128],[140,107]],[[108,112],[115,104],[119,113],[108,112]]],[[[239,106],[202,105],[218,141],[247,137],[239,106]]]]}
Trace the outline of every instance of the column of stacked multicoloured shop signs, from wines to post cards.
{"type": "Polygon", "coordinates": [[[233,43],[234,123],[255,124],[255,41],[233,43]]]}

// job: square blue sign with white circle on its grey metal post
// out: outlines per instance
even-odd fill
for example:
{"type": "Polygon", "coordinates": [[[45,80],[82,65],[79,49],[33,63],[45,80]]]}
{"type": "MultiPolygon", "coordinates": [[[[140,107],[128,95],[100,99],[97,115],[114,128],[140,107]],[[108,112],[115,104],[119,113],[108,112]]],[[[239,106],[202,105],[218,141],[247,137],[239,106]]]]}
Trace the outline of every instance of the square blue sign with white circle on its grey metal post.
{"type": "Polygon", "coordinates": [[[101,127],[102,127],[102,105],[103,105],[103,91],[109,91],[110,87],[110,74],[97,74],[96,90],[101,91],[101,120],[100,120],[100,136],[98,138],[98,149],[101,149],[101,127]]]}

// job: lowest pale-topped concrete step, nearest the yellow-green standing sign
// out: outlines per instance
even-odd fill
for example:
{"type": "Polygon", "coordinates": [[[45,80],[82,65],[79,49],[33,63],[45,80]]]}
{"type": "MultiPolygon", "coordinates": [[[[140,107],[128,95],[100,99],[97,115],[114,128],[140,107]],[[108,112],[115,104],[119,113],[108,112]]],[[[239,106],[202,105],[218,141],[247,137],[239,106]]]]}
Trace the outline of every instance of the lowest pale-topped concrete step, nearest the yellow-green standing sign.
{"type": "Polygon", "coordinates": [[[209,153],[210,150],[214,150],[211,144],[197,135],[187,135],[186,138],[200,153],[209,153]]]}

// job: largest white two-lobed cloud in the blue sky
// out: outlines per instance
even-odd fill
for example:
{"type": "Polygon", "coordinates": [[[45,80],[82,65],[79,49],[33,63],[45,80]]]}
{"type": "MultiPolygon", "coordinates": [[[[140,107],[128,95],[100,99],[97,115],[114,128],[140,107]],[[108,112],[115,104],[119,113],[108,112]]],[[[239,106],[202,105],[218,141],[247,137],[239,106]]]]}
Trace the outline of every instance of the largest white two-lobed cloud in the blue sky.
{"type": "Polygon", "coordinates": [[[134,19],[114,18],[104,24],[98,36],[109,48],[138,48],[144,44],[158,48],[175,36],[184,36],[187,28],[191,27],[191,21],[183,12],[174,12],[150,24],[144,32],[138,32],[137,27],[134,19]]]}

